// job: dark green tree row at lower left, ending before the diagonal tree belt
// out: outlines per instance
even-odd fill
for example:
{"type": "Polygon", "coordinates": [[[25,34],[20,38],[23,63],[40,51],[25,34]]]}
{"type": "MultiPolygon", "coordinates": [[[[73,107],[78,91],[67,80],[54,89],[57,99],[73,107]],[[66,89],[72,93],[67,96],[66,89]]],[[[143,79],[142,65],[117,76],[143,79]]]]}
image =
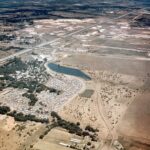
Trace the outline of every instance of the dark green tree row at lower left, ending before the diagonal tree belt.
{"type": "Polygon", "coordinates": [[[23,113],[17,113],[16,111],[10,112],[7,115],[14,117],[16,121],[26,122],[26,121],[35,121],[41,123],[49,123],[48,119],[37,118],[35,115],[24,115],[23,113]]]}

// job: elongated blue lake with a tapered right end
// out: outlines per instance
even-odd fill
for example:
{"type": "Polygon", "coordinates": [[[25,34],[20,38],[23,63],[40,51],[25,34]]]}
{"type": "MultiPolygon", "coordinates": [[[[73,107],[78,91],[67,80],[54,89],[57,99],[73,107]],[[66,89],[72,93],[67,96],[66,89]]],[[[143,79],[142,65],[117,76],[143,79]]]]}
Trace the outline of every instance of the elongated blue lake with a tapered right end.
{"type": "Polygon", "coordinates": [[[79,69],[60,66],[60,65],[54,64],[54,63],[49,63],[48,67],[57,73],[63,73],[63,74],[67,74],[67,75],[80,77],[84,80],[91,80],[91,78],[87,74],[85,74],[84,72],[82,72],[79,69]]]}

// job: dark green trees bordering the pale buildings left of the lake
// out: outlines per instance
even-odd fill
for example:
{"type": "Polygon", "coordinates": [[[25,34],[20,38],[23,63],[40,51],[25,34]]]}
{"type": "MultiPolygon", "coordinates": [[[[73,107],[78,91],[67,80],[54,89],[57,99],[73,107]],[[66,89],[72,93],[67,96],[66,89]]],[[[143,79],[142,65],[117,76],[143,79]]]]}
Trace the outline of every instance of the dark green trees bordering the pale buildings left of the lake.
{"type": "MultiPolygon", "coordinates": [[[[0,90],[2,91],[7,87],[28,89],[27,93],[23,94],[22,96],[30,99],[30,106],[34,106],[35,103],[38,101],[36,95],[34,94],[35,92],[40,93],[41,91],[49,91],[50,93],[53,92],[59,95],[61,93],[60,90],[50,88],[42,83],[39,83],[36,77],[35,79],[33,78],[29,80],[24,78],[18,80],[15,77],[16,71],[26,71],[29,66],[34,70],[34,68],[36,68],[36,66],[40,66],[40,64],[41,62],[39,62],[38,60],[30,61],[28,63],[24,63],[20,58],[14,58],[9,60],[8,63],[0,67],[0,75],[2,75],[0,77],[0,90]],[[14,74],[14,76],[12,76],[11,74],[14,74]]],[[[42,66],[41,68],[44,68],[44,66],[42,66]]]]}

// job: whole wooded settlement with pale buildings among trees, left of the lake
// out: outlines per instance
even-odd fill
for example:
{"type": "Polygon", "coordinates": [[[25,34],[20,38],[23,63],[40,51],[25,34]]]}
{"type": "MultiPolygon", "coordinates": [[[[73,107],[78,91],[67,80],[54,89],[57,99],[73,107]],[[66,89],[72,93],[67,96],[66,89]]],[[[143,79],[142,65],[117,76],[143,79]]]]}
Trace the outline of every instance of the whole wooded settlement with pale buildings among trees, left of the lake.
{"type": "Polygon", "coordinates": [[[0,75],[0,91],[7,87],[28,89],[22,96],[30,99],[30,106],[34,106],[38,101],[36,92],[49,91],[57,95],[61,93],[60,90],[43,84],[49,75],[45,72],[44,62],[38,60],[23,62],[20,58],[11,59],[3,66],[0,66],[0,75]],[[27,74],[28,77],[24,77],[24,74],[27,74]]]}

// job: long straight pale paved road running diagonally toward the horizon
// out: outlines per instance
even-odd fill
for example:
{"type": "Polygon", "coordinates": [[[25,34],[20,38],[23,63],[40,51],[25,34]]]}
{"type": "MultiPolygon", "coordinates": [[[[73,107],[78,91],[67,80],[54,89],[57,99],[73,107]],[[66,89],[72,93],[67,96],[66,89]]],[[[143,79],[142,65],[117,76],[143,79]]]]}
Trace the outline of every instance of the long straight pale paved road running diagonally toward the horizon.
{"type": "MultiPolygon", "coordinates": [[[[143,9],[141,9],[141,10],[143,10],[143,9]]],[[[135,10],[134,10],[134,11],[135,11],[135,10]]],[[[129,14],[132,14],[134,11],[131,11],[131,12],[129,12],[129,13],[126,13],[126,14],[124,14],[124,15],[121,15],[121,16],[116,17],[116,18],[111,19],[111,20],[118,20],[118,19],[121,19],[121,18],[123,18],[123,17],[125,17],[125,16],[128,16],[129,14]]],[[[104,23],[104,22],[102,22],[102,23],[104,23]]],[[[56,43],[56,42],[58,42],[58,41],[60,41],[60,40],[62,40],[62,39],[64,39],[64,38],[71,37],[72,35],[75,35],[75,34],[77,34],[77,33],[86,31],[86,30],[88,30],[88,29],[90,29],[90,28],[92,28],[92,27],[95,27],[95,26],[99,25],[99,24],[101,24],[101,23],[95,23],[95,24],[86,26],[86,27],[84,27],[83,29],[74,31],[74,32],[72,32],[72,33],[68,33],[68,34],[66,34],[66,35],[64,35],[64,36],[62,36],[62,37],[60,37],[60,38],[56,38],[56,39],[54,39],[54,40],[52,40],[52,41],[48,41],[48,42],[44,42],[44,43],[42,43],[42,44],[39,44],[39,45],[37,45],[35,48],[41,48],[41,47],[46,46],[46,45],[49,45],[49,44],[54,44],[54,43],[56,43]]],[[[20,51],[20,52],[15,53],[15,54],[12,54],[12,55],[10,55],[10,56],[4,57],[4,58],[0,59],[0,62],[4,62],[4,61],[7,61],[7,60],[12,59],[12,58],[14,58],[14,57],[20,56],[20,55],[22,55],[22,54],[25,54],[25,53],[27,53],[27,52],[30,52],[30,51],[34,50],[35,48],[25,49],[25,50],[22,50],[22,51],[20,51]]]]}

